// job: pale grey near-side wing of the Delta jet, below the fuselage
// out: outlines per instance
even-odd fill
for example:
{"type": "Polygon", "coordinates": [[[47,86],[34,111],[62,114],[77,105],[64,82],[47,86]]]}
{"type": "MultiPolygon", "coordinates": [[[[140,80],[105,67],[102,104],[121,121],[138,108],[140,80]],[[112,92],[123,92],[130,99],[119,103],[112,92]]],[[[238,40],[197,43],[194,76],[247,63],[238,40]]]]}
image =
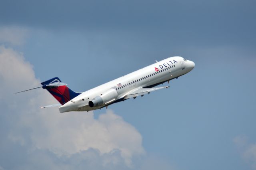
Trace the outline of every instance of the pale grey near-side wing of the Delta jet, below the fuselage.
{"type": "Polygon", "coordinates": [[[156,91],[159,89],[167,89],[170,86],[164,86],[164,87],[153,87],[153,88],[142,88],[142,87],[138,87],[132,91],[130,91],[129,93],[127,93],[124,96],[124,99],[129,99],[129,98],[136,98],[137,96],[144,96],[145,94],[149,94],[151,91],[156,91]]]}

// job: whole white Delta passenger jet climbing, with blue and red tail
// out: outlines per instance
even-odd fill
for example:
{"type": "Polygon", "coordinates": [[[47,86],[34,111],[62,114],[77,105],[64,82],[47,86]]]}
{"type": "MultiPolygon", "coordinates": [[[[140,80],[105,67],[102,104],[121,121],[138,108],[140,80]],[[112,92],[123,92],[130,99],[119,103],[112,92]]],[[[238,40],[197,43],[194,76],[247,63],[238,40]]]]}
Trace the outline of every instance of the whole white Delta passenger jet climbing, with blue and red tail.
{"type": "MultiPolygon", "coordinates": [[[[60,113],[70,111],[92,111],[108,108],[108,105],[118,103],[138,96],[143,97],[152,91],[167,89],[169,86],[156,87],[157,85],[168,82],[172,79],[190,72],[194,69],[193,61],[183,57],[169,57],[156,63],[109,81],[98,87],[83,93],[74,92],[67,87],[66,83],[54,77],[41,83],[43,88],[49,91],[60,104],[49,105],[46,107],[60,106],[60,113]]],[[[28,89],[32,90],[32,89],[28,89]]],[[[24,90],[24,91],[28,91],[24,90]]],[[[20,91],[20,92],[24,92],[20,91]]],[[[20,93],[17,92],[17,93],[20,93]]]]}

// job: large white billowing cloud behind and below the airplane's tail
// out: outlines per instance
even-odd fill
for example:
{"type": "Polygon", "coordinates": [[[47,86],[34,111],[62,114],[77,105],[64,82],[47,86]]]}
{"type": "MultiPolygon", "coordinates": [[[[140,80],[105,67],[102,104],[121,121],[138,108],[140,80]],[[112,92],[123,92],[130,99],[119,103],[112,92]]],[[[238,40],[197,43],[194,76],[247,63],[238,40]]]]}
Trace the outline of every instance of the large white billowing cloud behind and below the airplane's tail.
{"type": "Polygon", "coordinates": [[[79,154],[86,160],[98,155],[102,166],[124,161],[132,167],[132,158],[144,154],[140,133],[111,110],[98,119],[93,112],[60,114],[58,108],[40,109],[41,105],[56,103],[46,90],[13,95],[40,85],[32,68],[22,53],[0,46],[0,107],[4,108],[1,121],[10,127],[9,140],[26,147],[28,152],[48,150],[58,158],[79,154]],[[89,152],[90,149],[94,151],[89,152]]]}

